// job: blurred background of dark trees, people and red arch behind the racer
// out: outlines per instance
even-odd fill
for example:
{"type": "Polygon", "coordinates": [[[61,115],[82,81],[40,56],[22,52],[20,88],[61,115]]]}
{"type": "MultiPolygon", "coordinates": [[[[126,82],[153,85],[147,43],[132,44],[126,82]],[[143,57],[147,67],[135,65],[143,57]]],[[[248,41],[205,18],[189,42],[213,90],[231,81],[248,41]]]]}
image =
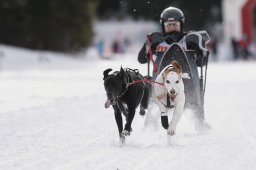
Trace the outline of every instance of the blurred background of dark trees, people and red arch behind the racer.
{"type": "MultiPolygon", "coordinates": [[[[185,31],[207,30],[211,60],[255,59],[255,0],[1,0],[0,43],[42,51],[138,53],[161,12],[180,8],[185,31]]],[[[94,53],[95,55],[96,53],[94,53]]]]}

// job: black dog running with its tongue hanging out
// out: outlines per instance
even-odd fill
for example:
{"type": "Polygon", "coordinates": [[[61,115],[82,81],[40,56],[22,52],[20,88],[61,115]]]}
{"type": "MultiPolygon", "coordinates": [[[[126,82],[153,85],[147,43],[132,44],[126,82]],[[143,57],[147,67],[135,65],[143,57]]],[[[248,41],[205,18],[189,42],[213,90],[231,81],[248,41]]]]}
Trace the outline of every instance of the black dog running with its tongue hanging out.
{"type": "Polygon", "coordinates": [[[121,67],[120,71],[115,71],[112,74],[109,74],[110,71],[112,69],[103,72],[104,87],[107,94],[105,107],[108,108],[112,105],[119,137],[121,142],[124,142],[125,136],[129,136],[132,131],[131,124],[136,108],[140,105],[141,115],[144,115],[145,109],[148,108],[151,87],[150,84],[143,82],[144,77],[138,70],[124,70],[121,67]],[[122,113],[126,118],[124,128],[122,113]]]}

